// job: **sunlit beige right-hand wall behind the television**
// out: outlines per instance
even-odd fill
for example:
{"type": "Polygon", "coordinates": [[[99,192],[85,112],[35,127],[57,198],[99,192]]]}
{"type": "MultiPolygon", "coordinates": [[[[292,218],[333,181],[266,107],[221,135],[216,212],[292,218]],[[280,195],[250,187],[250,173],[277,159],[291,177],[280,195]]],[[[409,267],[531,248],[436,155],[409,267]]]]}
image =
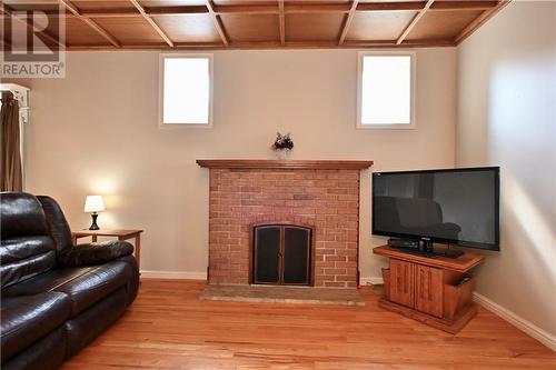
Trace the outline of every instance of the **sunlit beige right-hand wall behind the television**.
{"type": "Polygon", "coordinates": [[[556,333],[556,2],[515,2],[458,50],[458,166],[502,167],[502,251],[478,292],[556,333]]]}

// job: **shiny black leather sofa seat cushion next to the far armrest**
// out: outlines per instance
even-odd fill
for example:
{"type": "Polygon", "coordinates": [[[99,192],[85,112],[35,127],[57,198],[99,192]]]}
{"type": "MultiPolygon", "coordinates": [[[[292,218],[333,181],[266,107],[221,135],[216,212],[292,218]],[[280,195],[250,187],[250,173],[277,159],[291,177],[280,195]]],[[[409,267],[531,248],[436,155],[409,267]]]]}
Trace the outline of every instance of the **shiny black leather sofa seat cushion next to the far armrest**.
{"type": "Polygon", "coordinates": [[[125,261],[102,266],[51,270],[2,290],[2,297],[57,291],[69,296],[71,316],[88,309],[120,287],[126,286],[132,269],[125,261]]]}

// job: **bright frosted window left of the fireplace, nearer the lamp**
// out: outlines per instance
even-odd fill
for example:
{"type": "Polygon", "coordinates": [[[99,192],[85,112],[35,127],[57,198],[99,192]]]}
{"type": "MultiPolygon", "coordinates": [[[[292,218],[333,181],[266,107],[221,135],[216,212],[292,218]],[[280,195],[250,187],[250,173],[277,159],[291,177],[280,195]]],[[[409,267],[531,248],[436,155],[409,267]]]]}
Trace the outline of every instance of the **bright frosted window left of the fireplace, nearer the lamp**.
{"type": "Polygon", "coordinates": [[[162,123],[210,124],[210,58],[162,61],[162,123]]]}

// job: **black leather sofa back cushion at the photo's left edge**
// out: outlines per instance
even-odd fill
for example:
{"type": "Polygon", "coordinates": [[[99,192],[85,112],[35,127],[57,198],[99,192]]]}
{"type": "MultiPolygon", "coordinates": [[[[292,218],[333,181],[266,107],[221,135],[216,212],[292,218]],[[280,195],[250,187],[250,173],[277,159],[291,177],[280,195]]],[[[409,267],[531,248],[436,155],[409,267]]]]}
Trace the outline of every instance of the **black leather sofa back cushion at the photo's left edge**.
{"type": "Polygon", "coordinates": [[[53,268],[56,247],[34,196],[3,192],[0,197],[0,287],[6,288],[53,268]]]}

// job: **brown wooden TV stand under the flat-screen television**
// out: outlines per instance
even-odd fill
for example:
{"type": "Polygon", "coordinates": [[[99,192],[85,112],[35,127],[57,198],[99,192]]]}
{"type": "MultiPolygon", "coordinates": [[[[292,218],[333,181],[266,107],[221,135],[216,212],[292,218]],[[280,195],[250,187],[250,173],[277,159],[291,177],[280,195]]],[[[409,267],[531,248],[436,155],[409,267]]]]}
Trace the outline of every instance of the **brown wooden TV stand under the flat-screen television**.
{"type": "Polygon", "coordinates": [[[373,252],[387,257],[390,264],[383,269],[381,308],[454,334],[477,313],[471,300],[476,281],[469,271],[485,260],[484,256],[465,252],[456,259],[430,258],[388,246],[373,252]]]}

